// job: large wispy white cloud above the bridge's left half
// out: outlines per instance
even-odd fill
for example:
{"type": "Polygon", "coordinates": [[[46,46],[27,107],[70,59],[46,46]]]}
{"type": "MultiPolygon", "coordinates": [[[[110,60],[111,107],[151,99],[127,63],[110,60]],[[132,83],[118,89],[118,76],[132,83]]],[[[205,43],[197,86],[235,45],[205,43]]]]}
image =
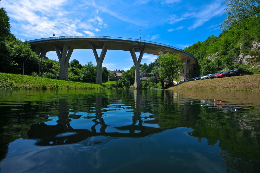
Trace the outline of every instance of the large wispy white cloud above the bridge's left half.
{"type": "Polygon", "coordinates": [[[11,19],[12,28],[20,36],[51,37],[54,25],[57,26],[56,36],[83,35],[81,30],[95,32],[107,27],[107,24],[98,16],[96,16],[97,21],[89,22],[80,17],[85,13],[84,11],[75,12],[75,10],[63,8],[67,3],[66,0],[14,0],[2,1],[1,5],[11,19]]]}

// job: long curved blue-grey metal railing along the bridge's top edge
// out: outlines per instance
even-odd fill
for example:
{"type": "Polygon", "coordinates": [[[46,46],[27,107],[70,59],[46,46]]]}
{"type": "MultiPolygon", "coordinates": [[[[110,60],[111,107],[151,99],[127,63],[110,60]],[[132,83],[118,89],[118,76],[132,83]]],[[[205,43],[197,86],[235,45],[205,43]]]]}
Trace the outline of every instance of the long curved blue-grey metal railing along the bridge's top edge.
{"type": "MultiPolygon", "coordinates": [[[[195,58],[192,54],[189,52],[186,52],[182,49],[179,49],[177,47],[173,47],[170,45],[166,44],[161,44],[153,41],[146,41],[146,40],[138,40],[138,39],[130,39],[130,38],[124,38],[124,37],[110,37],[110,36],[90,36],[90,35],[76,35],[76,36],[60,36],[60,37],[48,37],[48,38],[42,38],[42,39],[35,39],[35,40],[29,40],[27,42],[36,42],[36,41],[44,41],[44,40],[57,40],[57,39],[73,39],[73,38],[90,38],[90,39],[113,39],[113,40],[127,40],[127,41],[137,41],[137,42],[143,42],[143,43],[149,43],[149,44],[155,44],[155,45],[160,45],[160,46],[165,46],[165,47],[170,47],[176,50],[179,50],[181,52],[187,53],[193,58],[195,58]]],[[[196,59],[196,58],[195,58],[196,59]]],[[[197,60],[197,59],[196,59],[197,60]]]]}

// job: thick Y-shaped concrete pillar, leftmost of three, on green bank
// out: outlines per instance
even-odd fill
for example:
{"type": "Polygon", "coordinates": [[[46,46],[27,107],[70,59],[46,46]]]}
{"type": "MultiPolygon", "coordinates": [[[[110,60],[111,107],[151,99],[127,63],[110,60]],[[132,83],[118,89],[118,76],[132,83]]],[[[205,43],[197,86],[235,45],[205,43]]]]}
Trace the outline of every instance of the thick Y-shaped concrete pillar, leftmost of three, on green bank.
{"type": "Polygon", "coordinates": [[[60,80],[68,81],[68,63],[73,49],[64,44],[63,48],[54,45],[55,51],[60,61],[60,80]]]}

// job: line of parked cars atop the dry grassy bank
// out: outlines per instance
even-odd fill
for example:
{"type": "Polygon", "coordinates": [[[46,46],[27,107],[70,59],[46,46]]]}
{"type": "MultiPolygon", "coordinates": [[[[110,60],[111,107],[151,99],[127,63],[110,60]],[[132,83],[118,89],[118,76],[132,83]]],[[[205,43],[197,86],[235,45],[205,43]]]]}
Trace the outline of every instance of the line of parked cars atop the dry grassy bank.
{"type": "MultiPolygon", "coordinates": [[[[259,69],[260,71],[260,69],[259,69]]],[[[232,69],[224,72],[217,72],[215,74],[207,74],[205,76],[198,76],[191,79],[183,79],[179,83],[189,82],[189,81],[197,81],[202,79],[213,79],[220,77],[230,77],[230,76],[242,76],[242,75],[254,75],[254,73],[246,70],[246,69],[232,69]]]]}

